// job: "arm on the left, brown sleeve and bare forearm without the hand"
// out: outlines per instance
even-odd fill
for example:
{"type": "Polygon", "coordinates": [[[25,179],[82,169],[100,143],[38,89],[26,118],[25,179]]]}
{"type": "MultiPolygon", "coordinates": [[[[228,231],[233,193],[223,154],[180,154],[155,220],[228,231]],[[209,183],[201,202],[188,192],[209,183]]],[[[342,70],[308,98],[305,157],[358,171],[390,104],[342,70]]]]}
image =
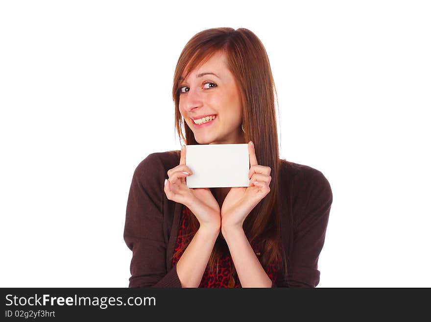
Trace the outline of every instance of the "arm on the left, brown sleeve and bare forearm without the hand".
{"type": "Polygon", "coordinates": [[[163,232],[165,168],[150,154],[133,174],[126,209],[124,240],[133,251],[129,287],[197,287],[216,242],[219,227],[201,226],[180,260],[166,269],[163,232]]]}

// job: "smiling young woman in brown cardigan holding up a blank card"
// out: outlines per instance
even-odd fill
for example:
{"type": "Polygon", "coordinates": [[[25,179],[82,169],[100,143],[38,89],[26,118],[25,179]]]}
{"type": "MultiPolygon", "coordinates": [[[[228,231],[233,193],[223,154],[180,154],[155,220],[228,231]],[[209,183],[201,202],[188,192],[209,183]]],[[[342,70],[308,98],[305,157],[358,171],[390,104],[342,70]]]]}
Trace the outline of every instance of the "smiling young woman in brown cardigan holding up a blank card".
{"type": "Polygon", "coordinates": [[[129,287],[318,284],[332,190],[320,171],[279,158],[274,91],[250,30],[212,28],[186,44],[172,89],[180,140],[248,143],[250,184],[188,188],[184,145],[148,155],[127,202],[129,287]]]}

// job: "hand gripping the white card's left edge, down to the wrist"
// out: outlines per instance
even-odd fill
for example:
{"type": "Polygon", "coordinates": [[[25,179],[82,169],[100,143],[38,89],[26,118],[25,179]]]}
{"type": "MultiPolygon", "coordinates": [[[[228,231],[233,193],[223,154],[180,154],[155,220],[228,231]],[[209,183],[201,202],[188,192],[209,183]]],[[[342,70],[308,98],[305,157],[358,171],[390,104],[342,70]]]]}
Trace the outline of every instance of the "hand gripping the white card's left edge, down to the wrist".
{"type": "Polygon", "coordinates": [[[200,227],[220,228],[220,206],[209,188],[189,188],[186,177],[192,175],[186,165],[186,146],[181,149],[180,164],[168,170],[165,194],[169,200],[186,205],[196,216],[200,227]],[[183,173],[183,172],[188,172],[183,173]]]}

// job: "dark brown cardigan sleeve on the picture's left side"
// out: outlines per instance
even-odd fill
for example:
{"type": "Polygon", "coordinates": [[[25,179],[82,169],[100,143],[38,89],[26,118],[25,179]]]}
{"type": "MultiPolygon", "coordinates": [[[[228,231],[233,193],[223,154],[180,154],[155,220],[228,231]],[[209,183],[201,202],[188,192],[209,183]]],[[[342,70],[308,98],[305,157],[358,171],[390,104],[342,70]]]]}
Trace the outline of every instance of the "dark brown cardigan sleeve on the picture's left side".
{"type": "Polygon", "coordinates": [[[135,169],[126,207],[124,241],[132,250],[129,288],[182,287],[176,265],[167,270],[163,233],[164,181],[167,174],[156,155],[135,169]]]}

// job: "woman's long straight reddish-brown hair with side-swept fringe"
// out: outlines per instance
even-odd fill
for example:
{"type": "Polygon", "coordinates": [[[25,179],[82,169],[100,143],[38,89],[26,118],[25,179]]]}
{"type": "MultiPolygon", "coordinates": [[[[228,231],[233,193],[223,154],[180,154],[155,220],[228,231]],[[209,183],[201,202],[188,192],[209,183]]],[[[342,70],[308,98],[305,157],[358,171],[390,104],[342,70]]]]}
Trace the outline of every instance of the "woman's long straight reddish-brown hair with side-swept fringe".
{"type": "MultiPolygon", "coordinates": [[[[219,51],[227,54],[228,69],[235,76],[242,99],[242,115],[245,142],[253,141],[259,165],[271,168],[270,192],[250,212],[243,229],[250,243],[263,243],[259,260],[263,268],[276,262],[278,272],[287,276],[287,255],[283,251],[281,218],[279,207],[279,147],[274,106],[274,79],[269,59],[260,39],[245,28],[211,28],[195,34],[186,44],[178,59],[173,77],[172,98],[175,102],[175,127],[178,136],[186,145],[198,145],[190,127],[184,122],[179,110],[179,82],[187,68],[187,77],[192,70],[205,63],[219,51]],[[185,131],[185,137],[183,131],[185,131]]],[[[278,105],[278,99],[277,99],[278,105]]],[[[199,223],[195,216],[186,228],[186,236],[192,237],[199,223]]],[[[181,254],[183,245],[174,256],[181,254]]],[[[211,253],[207,269],[218,272],[221,254],[228,251],[220,238],[211,253]]],[[[236,270],[232,274],[235,276],[236,270]]]]}

